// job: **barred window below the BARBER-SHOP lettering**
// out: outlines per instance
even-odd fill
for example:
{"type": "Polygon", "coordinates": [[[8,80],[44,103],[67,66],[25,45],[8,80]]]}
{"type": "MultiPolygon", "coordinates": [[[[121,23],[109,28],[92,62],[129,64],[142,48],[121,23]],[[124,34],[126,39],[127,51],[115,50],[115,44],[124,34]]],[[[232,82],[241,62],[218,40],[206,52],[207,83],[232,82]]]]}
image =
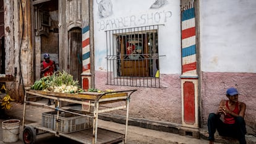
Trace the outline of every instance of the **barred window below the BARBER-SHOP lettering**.
{"type": "Polygon", "coordinates": [[[106,31],[107,84],[160,88],[158,27],[106,31]]]}

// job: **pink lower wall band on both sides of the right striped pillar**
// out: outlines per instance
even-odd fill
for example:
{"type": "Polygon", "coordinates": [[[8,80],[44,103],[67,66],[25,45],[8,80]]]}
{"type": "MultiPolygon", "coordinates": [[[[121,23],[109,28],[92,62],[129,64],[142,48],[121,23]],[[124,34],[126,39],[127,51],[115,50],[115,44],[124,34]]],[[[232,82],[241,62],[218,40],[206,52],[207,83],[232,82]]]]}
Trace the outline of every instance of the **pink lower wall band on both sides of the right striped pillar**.
{"type": "MultiPolygon", "coordinates": [[[[106,73],[96,71],[95,88],[105,90],[132,90],[129,116],[181,124],[181,78],[179,75],[160,75],[161,88],[124,87],[105,85],[106,73]]],[[[210,112],[216,112],[221,99],[226,99],[226,89],[236,87],[241,93],[239,100],[247,104],[245,122],[247,131],[256,129],[256,74],[202,72],[199,82],[202,90],[202,127],[207,127],[210,112]]],[[[200,93],[201,92],[201,93],[200,93]]],[[[115,112],[123,114],[124,112],[115,112]]],[[[200,117],[199,117],[200,118],[200,117]]]]}

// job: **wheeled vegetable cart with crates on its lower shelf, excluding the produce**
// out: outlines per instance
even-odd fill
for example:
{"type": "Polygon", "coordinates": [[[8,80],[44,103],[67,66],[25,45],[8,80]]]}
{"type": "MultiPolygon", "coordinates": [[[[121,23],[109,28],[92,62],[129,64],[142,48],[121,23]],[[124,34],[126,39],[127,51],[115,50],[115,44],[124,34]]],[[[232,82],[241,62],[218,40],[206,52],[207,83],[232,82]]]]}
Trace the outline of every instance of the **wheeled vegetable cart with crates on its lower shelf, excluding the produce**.
{"type": "Polygon", "coordinates": [[[102,93],[96,93],[96,92],[55,93],[55,92],[27,89],[25,91],[24,108],[23,108],[23,123],[22,123],[23,141],[25,144],[35,143],[36,135],[40,134],[39,131],[41,131],[41,132],[54,133],[57,137],[59,136],[67,137],[77,142],[86,143],[86,144],[119,143],[119,142],[126,143],[128,116],[129,116],[129,100],[130,100],[130,95],[132,95],[134,91],[136,90],[111,91],[111,92],[102,92],[102,93]],[[42,98],[49,98],[51,100],[54,100],[55,101],[54,112],[56,113],[54,115],[51,115],[51,117],[45,117],[47,118],[45,120],[43,120],[43,115],[42,115],[42,122],[25,124],[25,112],[26,112],[27,104],[33,104],[35,106],[52,108],[46,104],[27,101],[28,95],[35,95],[35,96],[40,96],[42,98]],[[62,107],[60,106],[61,101],[82,104],[83,106],[88,106],[89,109],[87,113],[71,111],[69,109],[62,109],[62,107]],[[124,104],[117,104],[118,106],[113,106],[111,108],[106,108],[106,107],[100,108],[101,104],[117,103],[119,101],[124,101],[124,104]],[[98,114],[100,114],[101,112],[109,112],[117,109],[126,109],[126,127],[124,129],[124,133],[117,133],[111,130],[101,129],[100,127],[98,127],[98,114]],[[79,119],[72,119],[71,117],[72,120],[69,120],[70,118],[68,118],[68,120],[65,120],[62,117],[63,112],[68,114],[75,114],[75,116],[79,116],[79,119]],[[80,116],[83,117],[82,120],[85,119],[86,124],[83,124],[80,122],[81,121],[80,116]],[[72,125],[71,123],[75,125],[72,125]],[[81,127],[81,124],[83,129],[79,128],[81,127]]]}

